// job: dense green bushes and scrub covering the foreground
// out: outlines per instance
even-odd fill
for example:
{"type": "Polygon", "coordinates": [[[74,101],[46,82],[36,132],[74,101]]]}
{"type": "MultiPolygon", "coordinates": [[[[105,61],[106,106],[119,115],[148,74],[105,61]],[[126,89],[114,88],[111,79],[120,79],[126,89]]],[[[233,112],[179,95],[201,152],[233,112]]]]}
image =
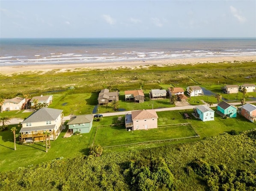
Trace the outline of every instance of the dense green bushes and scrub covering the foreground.
{"type": "Polygon", "coordinates": [[[199,142],[56,159],[0,174],[13,190],[241,190],[256,189],[256,130],[199,142]]]}

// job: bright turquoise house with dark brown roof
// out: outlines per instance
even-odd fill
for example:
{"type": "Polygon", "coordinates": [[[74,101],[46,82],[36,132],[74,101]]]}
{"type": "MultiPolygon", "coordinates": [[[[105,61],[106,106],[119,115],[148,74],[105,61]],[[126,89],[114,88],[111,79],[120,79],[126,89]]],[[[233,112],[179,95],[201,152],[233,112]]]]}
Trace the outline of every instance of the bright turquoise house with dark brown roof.
{"type": "Polygon", "coordinates": [[[237,108],[235,106],[228,104],[225,101],[221,101],[217,105],[217,114],[219,114],[220,116],[223,116],[223,117],[227,116],[230,118],[235,118],[236,112],[237,112],[237,108]]]}

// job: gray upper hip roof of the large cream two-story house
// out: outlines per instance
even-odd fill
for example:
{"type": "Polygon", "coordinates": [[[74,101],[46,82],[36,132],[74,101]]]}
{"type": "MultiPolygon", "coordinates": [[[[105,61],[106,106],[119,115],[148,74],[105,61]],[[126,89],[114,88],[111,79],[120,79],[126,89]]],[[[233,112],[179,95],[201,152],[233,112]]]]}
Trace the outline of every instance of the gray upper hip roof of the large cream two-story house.
{"type": "Polygon", "coordinates": [[[32,113],[27,119],[21,122],[21,124],[33,123],[33,122],[55,121],[62,112],[63,110],[42,107],[41,109],[32,113]]]}

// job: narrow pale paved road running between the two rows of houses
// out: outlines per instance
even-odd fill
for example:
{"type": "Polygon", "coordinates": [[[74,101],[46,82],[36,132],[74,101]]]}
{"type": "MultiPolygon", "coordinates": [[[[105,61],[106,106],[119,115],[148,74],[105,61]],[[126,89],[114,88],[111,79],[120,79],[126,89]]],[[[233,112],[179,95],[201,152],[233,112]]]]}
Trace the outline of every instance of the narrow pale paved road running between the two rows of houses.
{"type": "MultiPolygon", "coordinates": [[[[256,101],[246,101],[246,103],[256,103],[256,101]]],[[[235,103],[230,103],[232,105],[240,105],[241,102],[235,102],[235,103]]],[[[206,105],[207,104],[203,104],[206,105]]],[[[217,104],[213,104],[212,107],[216,107],[217,104]]],[[[191,110],[194,107],[196,107],[196,105],[188,105],[188,106],[181,106],[181,107],[167,107],[167,108],[160,108],[160,109],[155,109],[156,112],[158,111],[174,111],[174,110],[191,110]]],[[[113,113],[101,113],[104,117],[107,116],[121,116],[121,115],[125,115],[126,113],[131,113],[131,111],[120,111],[120,112],[113,112],[113,113]]],[[[65,116],[66,119],[68,120],[69,117],[65,116]]],[[[10,119],[10,122],[7,124],[19,124],[20,122],[23,122],[24,119],[21,118],[12,118],[10,119]]],[[[1,125],[1,124],[0,124],[1,125]]]]}

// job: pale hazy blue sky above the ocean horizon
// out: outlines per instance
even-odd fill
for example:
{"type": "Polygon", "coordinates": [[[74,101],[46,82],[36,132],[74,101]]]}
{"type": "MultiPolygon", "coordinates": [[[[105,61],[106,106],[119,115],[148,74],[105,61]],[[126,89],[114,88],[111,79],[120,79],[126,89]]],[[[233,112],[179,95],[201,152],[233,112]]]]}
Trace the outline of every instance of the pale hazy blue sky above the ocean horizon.
{"type": "Polygon", "coordinates": [[[0,38],[256,38],[256,0],[0,0],[0,38]]]}

